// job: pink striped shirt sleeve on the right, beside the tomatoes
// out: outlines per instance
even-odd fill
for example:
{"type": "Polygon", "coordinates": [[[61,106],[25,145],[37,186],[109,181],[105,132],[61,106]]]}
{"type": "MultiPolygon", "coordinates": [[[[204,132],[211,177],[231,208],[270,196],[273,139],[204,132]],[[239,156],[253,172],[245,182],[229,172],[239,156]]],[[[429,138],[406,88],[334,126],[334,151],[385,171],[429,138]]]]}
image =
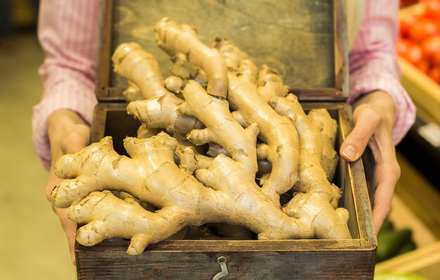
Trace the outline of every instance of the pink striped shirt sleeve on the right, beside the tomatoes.
{"type": "Polygon", "coordinates": [[[399,143],[415,121],[415,106],[400,84],[396,55],[399,1],[365,1],[365,15],[350,53],[348,102],[371,91],[384,91],[396,102],[393,142],[399,143]]]}

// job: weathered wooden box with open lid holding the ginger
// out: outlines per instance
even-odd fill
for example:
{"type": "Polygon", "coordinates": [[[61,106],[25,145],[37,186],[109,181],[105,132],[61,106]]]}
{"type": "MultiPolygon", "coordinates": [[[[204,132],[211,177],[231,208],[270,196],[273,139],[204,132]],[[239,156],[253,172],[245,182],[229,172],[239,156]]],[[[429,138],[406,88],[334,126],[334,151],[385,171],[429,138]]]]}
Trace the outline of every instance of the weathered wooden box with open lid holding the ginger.
{"type": "MultiPolygon", "coordinates": [[[[157,57],[162,72],[169,58],[154,43],[153,27],[163,16],[193,22],[202,41],[224,36],[283,74],[307,111],[326,108],[337,120],[337,148],[352,128],[344,0],[295,1],[105,1],[91,141],[111,135],[117,152],[136,135],[138,122],[126,114],[125,81],[111,72],[110,55],[136,41],[157,57]]],[[[340,206],[350,213],[347,240],[175,240],[153,244],[142,255],[125,252],[129,241],[111,239],[75,246],[78,279],[213,279],[224,257],[221,279],[373,279],[376,240],[362,162],[341,160],[335,184],[340,206]]]]}

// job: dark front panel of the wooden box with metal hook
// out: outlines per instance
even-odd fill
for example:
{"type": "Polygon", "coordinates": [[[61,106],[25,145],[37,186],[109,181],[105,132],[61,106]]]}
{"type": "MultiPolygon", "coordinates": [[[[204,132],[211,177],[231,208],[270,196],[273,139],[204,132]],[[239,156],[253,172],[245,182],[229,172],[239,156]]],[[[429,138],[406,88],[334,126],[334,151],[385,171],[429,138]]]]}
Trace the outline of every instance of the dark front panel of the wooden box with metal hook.
{"type": "Polygon", "coordinates": [[[212,279],[227,259],[225,279],[373,279],[368,251],[144,253],[84,255],[78,279],[212,279]]]}

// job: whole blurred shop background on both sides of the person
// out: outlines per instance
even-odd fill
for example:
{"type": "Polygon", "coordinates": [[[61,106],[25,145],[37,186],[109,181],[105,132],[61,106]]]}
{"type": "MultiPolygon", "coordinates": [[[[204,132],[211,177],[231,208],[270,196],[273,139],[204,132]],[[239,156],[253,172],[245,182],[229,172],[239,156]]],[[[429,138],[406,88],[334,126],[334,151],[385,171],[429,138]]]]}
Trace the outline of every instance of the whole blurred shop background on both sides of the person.
{"type": "MultiPolygon", "coordinates": [[[[37,7],[35,0],[0,0],[0,279],[76,279],[65,234],[44,196],[48,173],[31,141],[44,60],[37,7]]],[[[439,279],[440,1],[401,1],[401,7],[396,47],[418,119],[397,147],[402,175],[378,238],[376,270],[439,279]]]]}

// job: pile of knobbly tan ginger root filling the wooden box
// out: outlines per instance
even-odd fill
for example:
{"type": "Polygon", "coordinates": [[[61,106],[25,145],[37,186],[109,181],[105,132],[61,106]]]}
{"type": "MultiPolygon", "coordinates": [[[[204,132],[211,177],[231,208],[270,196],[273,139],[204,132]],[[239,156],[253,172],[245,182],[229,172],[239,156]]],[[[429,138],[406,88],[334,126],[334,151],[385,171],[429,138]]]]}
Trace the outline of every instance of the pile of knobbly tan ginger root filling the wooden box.
{"type": "Polygon", "coordinates": [[[56,163],[65,180],[53,205],[83,225],[79,244],[122,237],[138,255],[202,225],[260,240],[351,239],[330,183],[338,156],[328,112],[305,114],[275,70],[258,69],[231,41],[206,46],[170,18],[157,23],[155,40],[172,60],[167,79],[136,43],[112,55],[129,81],[127,112],[142,123],[137,138],[124,139],[129,156],[107,136],[56,163]]]}

